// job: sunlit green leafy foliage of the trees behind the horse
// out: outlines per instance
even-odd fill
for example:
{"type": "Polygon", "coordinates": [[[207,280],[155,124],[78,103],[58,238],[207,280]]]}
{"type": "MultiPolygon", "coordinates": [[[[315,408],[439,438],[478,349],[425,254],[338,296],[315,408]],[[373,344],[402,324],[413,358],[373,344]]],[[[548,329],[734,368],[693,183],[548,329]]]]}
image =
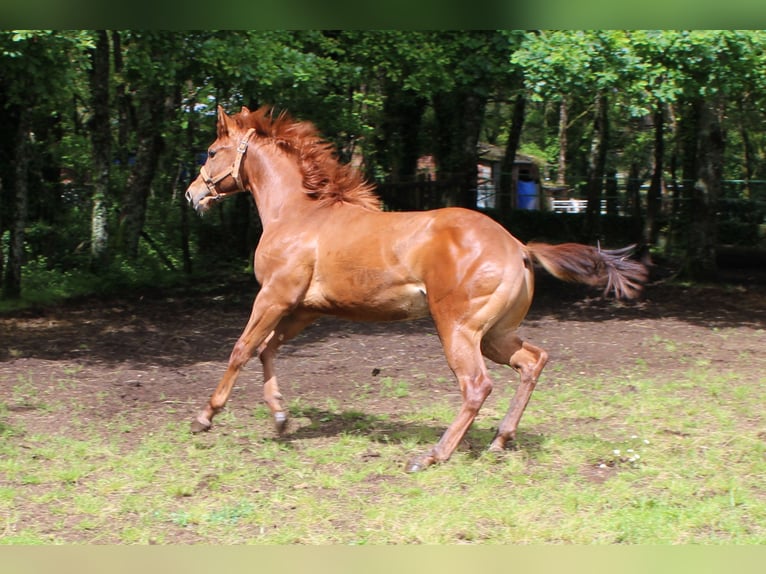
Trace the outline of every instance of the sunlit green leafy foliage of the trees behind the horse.
{"type": "MultiPolygon", "coordinates": [[[[0,237],[5,242],[0,270],[7,269],[9,233],[21,216],[15,207],[12,166],[23,109],[32,137],[22,263],[29,267],[27,288],[35,293],[44,284],[35,277],[45,273],[61,273],[61,282],[72,287],[60,289],[80,292],[73,277],[91,272],[97,175],[91,59],[96,37],[93,30],[0,32],[0,104],[5,110],[0,132],[0,237]]],[[[584,179],[592,145],[595,94],[609,95],[613,168],[625,173],[638,165],[644,179],[653,148],[647,118],[658,106],[667,111],[669,166],[683,145],[673,131],[684,120],[681,103],[701,98],[715,102],[721,113],[727,140],[723,177],[748,182],[734,197],[726,197],[747,201],[742,204],[746,207],[727,207],[726,212],[760,213],[762,192],[749,182],[766,178],[762,31],[111,30],[108,37],[113,163],[105,202],[108,257],[114,260],[148,257],[156,263],[164,258],[166,266],[194,267],[209,255],[206,243],[212,236],[234,238],[232,255],[240,260],[249,255],[258,227],[252,213],[235,215],[227,206],[213,222],[190,217],[188,234],[181,232],[186,224],[178,207],[180,195],[196,172],[199,152],[210,142],[218,104],[228,111],[264,103],[288,109],[314,121],[343,160],[360,161],[369,176],[386,179],[405,161],[404,154],[433,155],[441,149],[445,154],[451,150],[451,157],[460,149],[460,130],[450,126],[470,120],[459,105],[443,105],[445,94],[487,102],[482,133],[502,145],[511,104],[523,93],[528,105],[521,149],[555,164],[560,147],[556,103],[566,97],[568,183],[575,186],[584,179]],[[436,98],[442,100],[441,117],[435,112],[436,98]],[[396,102],[422,104],[406,120],[419,122],[415,141],[407,145],[402,118],[397,117],[401,107],[391,105],[396,102]],[[445,110],[455,116],[454,124],[445,120],[445,110]],[[136,164],[139,145],[152,138],[162,144],[151,184],[127,193],[144,167],[136,164]],[[450,138],[455,141],[447,145],[450,138]],[[142,246],[142,253],[127,253],[123,226],[143,196],[147,212],[139,224],[160,252],[142,246]]],[[[752,244],[762,220],[751,219],[722,220],[723,239],[731,236],[732,242],[752,244]]],[[[102,272],[109,275],[112,268],[102,272]]]]}

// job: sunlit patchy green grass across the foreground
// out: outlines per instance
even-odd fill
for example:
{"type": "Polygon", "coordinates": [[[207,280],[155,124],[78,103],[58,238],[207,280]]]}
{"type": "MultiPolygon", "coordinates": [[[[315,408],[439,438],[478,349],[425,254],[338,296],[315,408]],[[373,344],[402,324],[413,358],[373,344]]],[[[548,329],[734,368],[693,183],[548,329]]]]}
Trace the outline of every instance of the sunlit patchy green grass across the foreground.
{"type": "MultiPolygon", "coordinates": [[[[470,448],[416,475],[404,462],[454,403],[408,398],[395,416],[293,403],[305,424],[282,440],[261,407],[190,436],[172,417],[31,434],[0,404],[0,543],[763,544],[764,382],[693,364],[672,380],[642,365],[553,373],[517,450],[483,450],[508,387],[470,448]]],[[[20,385],[9,403],[37,400],[34,381],[20,385]]]]}

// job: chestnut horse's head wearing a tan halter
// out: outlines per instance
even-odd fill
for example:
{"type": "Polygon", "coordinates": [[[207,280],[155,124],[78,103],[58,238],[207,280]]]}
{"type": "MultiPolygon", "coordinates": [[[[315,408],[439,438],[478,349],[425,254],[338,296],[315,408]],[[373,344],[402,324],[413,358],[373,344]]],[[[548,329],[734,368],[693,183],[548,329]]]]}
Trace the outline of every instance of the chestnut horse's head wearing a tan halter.
{"type": "MultiPolygon", "coordinates": [[[[243,107],[240,116],[249,113],[250,110],[243,107]]],[[[186,190],[186,199],[194,209],[202,213],[211,203],[245,190],[240,170],[254,131],[241,128],[218,106],[217,137],[207,150],[207,160],[199,175],[186,190]]]]}

